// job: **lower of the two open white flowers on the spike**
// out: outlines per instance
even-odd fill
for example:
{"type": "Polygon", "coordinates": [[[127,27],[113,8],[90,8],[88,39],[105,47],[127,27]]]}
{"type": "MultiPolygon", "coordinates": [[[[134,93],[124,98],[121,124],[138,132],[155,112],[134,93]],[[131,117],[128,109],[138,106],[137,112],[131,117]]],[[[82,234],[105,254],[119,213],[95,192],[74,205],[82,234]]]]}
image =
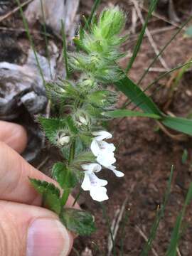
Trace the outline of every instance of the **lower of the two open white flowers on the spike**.
{"type": "Polygon", "coordinates": [[[107,181],[98,178],[95,173],[101,171],[100,164],[82,164],[84,169],[84,179],[82,181],[82,189],[84,191],[90,191],[90,196],[95,201],[105,201],[108,198],[107,189],[104,187],[107,185],[107,181]]]}

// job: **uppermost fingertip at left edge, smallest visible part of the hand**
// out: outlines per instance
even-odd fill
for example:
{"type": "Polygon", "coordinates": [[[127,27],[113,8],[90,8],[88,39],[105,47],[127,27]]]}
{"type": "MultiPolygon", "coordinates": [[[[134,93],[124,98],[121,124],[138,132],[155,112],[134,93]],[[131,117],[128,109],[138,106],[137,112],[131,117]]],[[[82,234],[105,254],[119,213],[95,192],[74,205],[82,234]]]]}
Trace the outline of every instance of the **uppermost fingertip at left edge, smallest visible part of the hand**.
{"type": "Polygon", "coordinates": [[[0,121],[0,141],[21,153],[27,144],[26,130],[21,125],[0,121]]]}

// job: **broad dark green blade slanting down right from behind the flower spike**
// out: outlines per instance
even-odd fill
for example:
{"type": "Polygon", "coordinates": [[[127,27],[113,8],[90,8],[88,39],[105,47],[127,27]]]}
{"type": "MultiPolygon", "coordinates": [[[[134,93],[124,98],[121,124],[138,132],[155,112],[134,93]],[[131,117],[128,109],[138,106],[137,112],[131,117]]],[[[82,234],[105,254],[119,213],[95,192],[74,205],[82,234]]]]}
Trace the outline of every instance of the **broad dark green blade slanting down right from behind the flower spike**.
{"type": "Polygon", "coordinates": [[[127,76],[124,76],[122,80],[118,82],[114,82],[117,89],[124,93],[127,97],[129,97],[135,105],[139,105],[139,107],[146,113],[157,114],[161,116],[161,111],[156,106],[156,104],[145,95],[145,93],[127,76]]]}

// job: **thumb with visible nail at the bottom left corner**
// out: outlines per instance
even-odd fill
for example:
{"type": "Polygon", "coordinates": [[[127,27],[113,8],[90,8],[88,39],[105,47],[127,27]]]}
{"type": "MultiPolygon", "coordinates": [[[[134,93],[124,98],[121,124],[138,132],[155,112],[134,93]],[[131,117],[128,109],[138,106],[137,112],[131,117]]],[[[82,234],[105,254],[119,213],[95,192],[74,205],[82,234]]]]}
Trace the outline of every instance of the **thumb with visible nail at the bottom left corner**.
{"type": "Polygon", "coordinates": [[[69,255],[73,235],[50,210],[6,201],[0,208],[0,255],[69,255]]]}

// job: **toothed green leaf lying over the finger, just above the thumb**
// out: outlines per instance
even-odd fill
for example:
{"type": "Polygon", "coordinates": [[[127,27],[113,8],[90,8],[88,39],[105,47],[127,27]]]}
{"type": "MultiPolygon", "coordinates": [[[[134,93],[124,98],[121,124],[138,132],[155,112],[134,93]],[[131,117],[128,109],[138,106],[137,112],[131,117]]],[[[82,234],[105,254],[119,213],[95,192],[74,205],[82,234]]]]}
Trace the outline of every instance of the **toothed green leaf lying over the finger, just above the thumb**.
{"type": "Polygon", "coordinates": [[[47,181],[40,181],[35,178],[29,178],[29,180],[36,191],[43,196],[43,206],[59,214],[61,210],[60,190],[53,183],[47,181]]]}

